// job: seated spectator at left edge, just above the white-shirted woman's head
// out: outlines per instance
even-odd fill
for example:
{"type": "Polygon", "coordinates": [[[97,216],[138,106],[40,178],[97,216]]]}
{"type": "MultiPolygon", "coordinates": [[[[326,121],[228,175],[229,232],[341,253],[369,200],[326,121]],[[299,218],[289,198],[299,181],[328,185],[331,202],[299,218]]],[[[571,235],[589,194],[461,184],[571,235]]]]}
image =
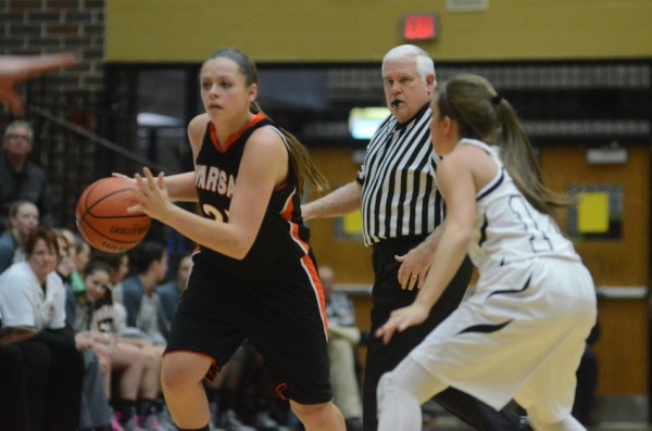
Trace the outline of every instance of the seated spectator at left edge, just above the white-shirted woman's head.
{"type": "Polygon", "coordinates": [[[0,272],[25,258],[25,242],[38,226],[38,208],[28,201],[16,201],[9,210],[9,229],[0,236],[0,272]]]}

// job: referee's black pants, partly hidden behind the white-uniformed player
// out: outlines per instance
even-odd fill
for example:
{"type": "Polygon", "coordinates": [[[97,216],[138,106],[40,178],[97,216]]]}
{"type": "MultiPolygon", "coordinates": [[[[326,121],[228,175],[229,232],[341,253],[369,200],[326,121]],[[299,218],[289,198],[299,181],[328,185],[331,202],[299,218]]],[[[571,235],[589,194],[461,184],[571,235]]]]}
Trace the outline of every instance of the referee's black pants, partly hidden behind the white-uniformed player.
{"type": "MultiPolygon", "coordinates": [[[[380,377],[392,370],[426,335],[446,319],[462,302],[471,280],[473,265],[466,258],[455,278],[432,307],[428,319],[419,326],[397,332],[388,345],[374,337],[396,308],[412,304],[417,290],[401,290],[398,282],[400,263],[394,255],[403,255],[418,245],[425,237],[385,240],[374,245],[374,289],[372,292],[372,329],[366,355],[363,384],[364,431],[378,428],[376,388],[380,377]]],[[[435,402],[457,418],[480,431],[518,430],[521,418],[510,411],[496,411],[492,407],[454,388],[448,388],[434,397],[435,402]]]]}

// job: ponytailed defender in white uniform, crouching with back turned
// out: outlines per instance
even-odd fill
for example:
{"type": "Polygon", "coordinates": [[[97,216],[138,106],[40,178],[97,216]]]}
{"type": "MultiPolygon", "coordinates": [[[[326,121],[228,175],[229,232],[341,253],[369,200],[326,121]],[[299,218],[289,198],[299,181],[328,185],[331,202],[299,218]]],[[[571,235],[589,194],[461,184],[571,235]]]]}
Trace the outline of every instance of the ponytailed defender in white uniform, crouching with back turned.
{"type": "Polygon", "coordinates": [[[541,183],[511,104],[479,76],[438,86],[430,125],[448,214],[414,303],[376,332],[421,324],[466,253],[475,294],[378,385],[379,431],[421,430],[421,404],[448,386],[496,409],[514,398],[536,430],[584,430],[575,371],[595,322],[591,276],[553,221],[568,201],[541,183]]]}

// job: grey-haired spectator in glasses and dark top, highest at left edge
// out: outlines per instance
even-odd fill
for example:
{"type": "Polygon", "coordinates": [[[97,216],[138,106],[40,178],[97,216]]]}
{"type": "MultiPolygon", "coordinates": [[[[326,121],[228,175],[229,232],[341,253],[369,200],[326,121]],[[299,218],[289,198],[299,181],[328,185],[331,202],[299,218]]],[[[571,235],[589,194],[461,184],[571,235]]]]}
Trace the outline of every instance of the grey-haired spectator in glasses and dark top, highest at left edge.
{"type": "Polygon", "coordinates": [[[7,126],[0,154],[0,231],[8,228],[9,210],[16,201],[33,202],[42,226],[55,225],[46,174],[28,161],[33,150],[34,129],[29,123],[15,121],[7,126]]]}

